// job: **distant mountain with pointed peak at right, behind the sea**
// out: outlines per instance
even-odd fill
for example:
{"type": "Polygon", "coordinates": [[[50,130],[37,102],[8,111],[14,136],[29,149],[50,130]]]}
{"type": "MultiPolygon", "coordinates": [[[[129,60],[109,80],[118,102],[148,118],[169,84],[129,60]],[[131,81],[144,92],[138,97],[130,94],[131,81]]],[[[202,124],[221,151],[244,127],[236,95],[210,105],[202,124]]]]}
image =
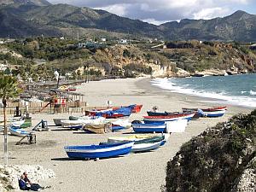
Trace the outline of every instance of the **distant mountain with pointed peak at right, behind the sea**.
{"type": "Polygon", "coordinates": [[[169,39],[203,39],[223,41],[255,41],[256,15],[236,11],[224,18],[212,20],[181,20],[160,25],[169,39]]]}

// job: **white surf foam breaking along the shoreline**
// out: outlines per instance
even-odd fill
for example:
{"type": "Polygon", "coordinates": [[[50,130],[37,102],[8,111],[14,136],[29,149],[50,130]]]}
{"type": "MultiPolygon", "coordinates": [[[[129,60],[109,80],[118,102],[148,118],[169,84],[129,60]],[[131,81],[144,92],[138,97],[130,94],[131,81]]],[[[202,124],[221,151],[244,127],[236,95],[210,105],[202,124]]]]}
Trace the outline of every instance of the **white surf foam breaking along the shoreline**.
{"type": "MultiPolygon", "coordinates": [[[[207,92],[204,90],[193,90],[189,88],[183,88],[180,86],[177,86],[177,84],[174,84],[168,79],[154,79],[151,82],[154,86],[158,86],[161,89],[169,90],[171,92],[177,92],[177,93],[183,93],[190,96],[201,96],[201,97],[207,97],[207,98],[213,98],[222,100],[224,103],[244,106],[248,108],[256,108],[256,98],[248,97],[248,96],[227,96],[225,92],[207,92]]],[[[256,95],[256,92],[253,90],[250,91],[250,94],[254,96],[256,95]]]]}

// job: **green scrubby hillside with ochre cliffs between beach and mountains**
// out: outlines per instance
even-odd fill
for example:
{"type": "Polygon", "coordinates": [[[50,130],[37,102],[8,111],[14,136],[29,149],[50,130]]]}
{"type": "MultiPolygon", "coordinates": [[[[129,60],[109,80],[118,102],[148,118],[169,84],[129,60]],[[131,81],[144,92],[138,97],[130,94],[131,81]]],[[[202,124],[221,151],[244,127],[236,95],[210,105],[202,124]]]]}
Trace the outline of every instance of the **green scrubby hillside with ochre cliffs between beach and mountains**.
{"type": "MultiPolygon", "coordinates": [[[[256,52],[235,43],[181,41],[167,42],[167,49],[150,49],[160,42],[93,42],[71,38],[26,38],[0,46],[0,64],[13,68],[12,73],[32,79],[51,79],[54,70],[68,79],[90,75],[109,77],[187,77],[255,73],[256,52]],[[15,58],[16,53],[22,58],[15,58]],[[38,62],[39,60],[39,62],[38,62]],[[41,61],[44,64],[41,64],[41,61]],[[15,67],[14,67],[15,66],[15,67]],[[40,73],[38,73],[40,72],[40,73]]],[[[9,73],[7,70],[6,73],[9,73]]]]}

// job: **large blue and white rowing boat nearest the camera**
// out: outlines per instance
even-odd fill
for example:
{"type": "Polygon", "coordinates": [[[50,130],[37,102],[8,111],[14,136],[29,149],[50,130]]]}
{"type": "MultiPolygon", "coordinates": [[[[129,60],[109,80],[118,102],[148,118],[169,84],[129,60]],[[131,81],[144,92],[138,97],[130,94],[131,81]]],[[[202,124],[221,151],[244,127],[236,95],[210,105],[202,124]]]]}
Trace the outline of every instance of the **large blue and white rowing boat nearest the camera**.
{"type": "Polygon", "coordinates": [[[65,146],[67,156],[77,159],[110,158],[129,154],[134,142],[102,145],[65,146]]]}

